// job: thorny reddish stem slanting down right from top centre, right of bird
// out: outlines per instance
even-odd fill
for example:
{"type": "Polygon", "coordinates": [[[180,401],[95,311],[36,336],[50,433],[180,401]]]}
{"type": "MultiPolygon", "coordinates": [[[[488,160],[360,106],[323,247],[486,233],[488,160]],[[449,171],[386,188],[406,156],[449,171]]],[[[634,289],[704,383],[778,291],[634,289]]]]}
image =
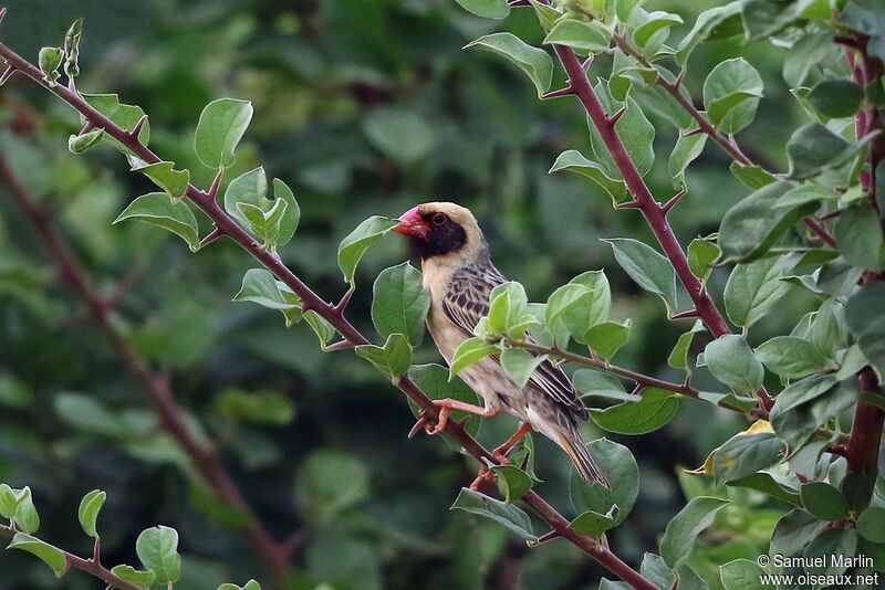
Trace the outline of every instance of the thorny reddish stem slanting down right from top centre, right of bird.
{"type": "MultiPolygon", "coordinates": [[[[685,285],[688,296],[691,297],[698,317],[704,320],[707,328],[715,337],[718,338],[725,334],[731,334],[731,328],[707,293],[707,289],[704,288],[700,278],[691,273],[688,265],[688,257],[683,246],[679,245],[679,241],[676,239],[673,228],[667,220],[667,211],[652,196],[652,191],[645,183],[642,173],[636,168],[629,154],[627,154],[627,149],[621,140],[621,136],[617,130],[615,130],[614,125],[607,120],[608,117],[605,113],[605,107],[590,85],[587,73],[581,65],[577,55],[575,55],[571,48],[565,45],[553,45],[553,50],[556,52],[556,56],[559,56],[565,72],[569,74],[570,84],[574,94],[577,96],[579,101],[581,101],[587,116],[600,133],[605,148],[608,150],[608,154],[611,154],[621,171],[621,176],[624,178],[624,182],[636,202],[636,208],[643,213],[643,217],[645,217],[660,247],[676,270],[677,276],[683,285],[685,285]]],[[[768,411],[771,410],[771,407],[774,404],[774,400],[771,399],[764,388],[759,390],[759,403],[760,410],[763,411],[764,415],[768,414],[768,411]]]]}

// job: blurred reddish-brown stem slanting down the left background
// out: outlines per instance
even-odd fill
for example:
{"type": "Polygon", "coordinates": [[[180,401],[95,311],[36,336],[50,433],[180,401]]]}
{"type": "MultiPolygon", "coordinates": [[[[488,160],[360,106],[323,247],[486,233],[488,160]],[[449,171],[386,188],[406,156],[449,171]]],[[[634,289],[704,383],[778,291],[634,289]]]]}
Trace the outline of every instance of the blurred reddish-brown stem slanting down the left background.
{"type": "Polygon", "coordinates": [[[9,186],[12,200],[31,221],[46,250],[55,259],[63,280],[86,304],[90,317],[111,343],[111,348],[119,355],[129,371],[142,381],[147,397],[160,419],[162,428],[184,447],[215,494],[237,510],[250,516],[249,523],[242,527],[249,542],[274,576],[284,575],[289,571],[290,566],[289,557],[282,546],[251,514],[249,505],[215,449],[205,444],[184,420],[185,411],[175,401],[166,376],[154,371],[147,360],[126,339],[117,323],[114,322],[111,305],[92,284],[73,249],[50,221],[45,208],[15,177],[2,154],[0,154],[0,178],[9,186]]]}

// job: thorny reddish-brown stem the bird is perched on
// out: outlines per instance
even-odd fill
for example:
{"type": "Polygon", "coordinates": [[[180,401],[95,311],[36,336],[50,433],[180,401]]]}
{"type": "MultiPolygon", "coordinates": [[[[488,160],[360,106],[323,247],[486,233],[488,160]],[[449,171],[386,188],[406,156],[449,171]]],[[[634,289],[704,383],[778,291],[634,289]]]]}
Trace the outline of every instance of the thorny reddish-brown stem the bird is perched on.
{"type": "MultiPolygon", "coordinates": [[[[98,110],[93,108],[86,103],[79,94],[71,92],[61,84],[56,86],[49,86],[42,80],[40,70],[18,55],[6,44],[0,43],[0,57],[4,59],[11,66],[20,71],[34,82],[45,87],[59,98],[67,103],[70,106],[79,110],[87,120],[92,122],[96,127],[101,127],[111,137],[126,146],[136,156],[146,161],[147,164],[155,164],[160,161],[160,158],[154,154],[148,147],[142,145],[137,138],[131,136],[125,129],[113,123],[111,119],[102,115],[98,110]]],[[[580,64],[579,64],[580,65],[580,64]]],[[[341,334],[341,336],[354,346],[368,344],[368,340],[361,334],[345,317],[340,314],[335,307],[323,301],[316,293],[313,292],[306,284],[304,284],[283,262],[279,256],[269,253],[261,247],[249,233],[246,232],[239,224],[231,218],[215,199],[206,192],[197,189],[192,185],[188,185],[186,196],[195,204],[197,204],[212,221],[215,221],[218,231],[223,232],[228,238],[233,240],[243,250],[252,255],[266,268],[271,271],[280,281],[289,286],[301,299],[304,302],[305,308],[314,310],[320,316],[324,317],[332,326],[341,334]]],[[[438,417],[438,409],[433,400],[418,388],[418,386],[408,378],[402,376],[396,379],[395,383],[406,396],[408,396],[415,403],[426,411],[426,415],[430,419],[438,417]]],[[[493,464],[498,462],[492,454],[482,446],[476,439],[468,434],[464,426],[457,421],[451,420],[448,422],[446,431],[454,436],[465,449],[467,453],[477,459],[480,463],[486,460],[491,461],[493,464]]],[[[644,578],[639,572],[627,566],[611,549],[596,542],[593,538],[580,535],[570,528],[569,520],[565,519],[555,508],[548,504],[537,492],[530,491],[522,501],[530,506],[534,513],[545,520],[559,536],[568,539],[570,542],[582,549],[586,555],[595,559],[600,565],[608,569],[612,573],[632,584],[635,588],[643,590],[655,590],[656,586],[649,580],[644,578]]]]}

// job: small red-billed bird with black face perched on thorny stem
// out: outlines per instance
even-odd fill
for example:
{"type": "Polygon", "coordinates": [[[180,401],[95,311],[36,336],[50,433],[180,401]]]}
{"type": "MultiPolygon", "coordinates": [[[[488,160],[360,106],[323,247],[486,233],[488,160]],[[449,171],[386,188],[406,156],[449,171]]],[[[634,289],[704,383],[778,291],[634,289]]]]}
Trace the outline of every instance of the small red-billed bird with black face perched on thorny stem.
{"type": "MultiPolygon", "coordinates": [[[[426,319],[428,331],[442,358],[451,365],[458,346],[473,336],[479,320],[488,315],[492,289],[507,283],[507,278],[492,263],[489,245],[469,209],[452,202],[427,202],[409,209],[397,221],[394,231],[407,236],[420,256],[421,284],[429,291],[431,302],[426,319]]],[[[527,334],[527,338],[531,335],[527,334]]],[[[469,365],[459,377],[479,394],[483,405],[435,400],[439,418],[435,428],[426,425],[428,433],[445,430],[452,410],[485,418],[503,410],[517,417],[521,425],[496,449],[497,459],[503,459],[512,445],[533,430],[562,447],[585,482],[611,487],[579,429],[579,422],[589,418],[587,409],[561,368],[545,359],[525,387],[519,387],[493,355],[469,365]]]]}

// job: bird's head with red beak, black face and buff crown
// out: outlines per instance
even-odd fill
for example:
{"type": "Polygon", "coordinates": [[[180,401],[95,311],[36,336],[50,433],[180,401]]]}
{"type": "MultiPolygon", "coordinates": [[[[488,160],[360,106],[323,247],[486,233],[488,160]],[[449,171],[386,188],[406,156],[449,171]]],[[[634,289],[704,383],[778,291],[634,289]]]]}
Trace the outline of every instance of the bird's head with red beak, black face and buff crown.
{"type": "Polygon", "coordinates": [[[487,250],[473,213],[455,203],[413,207],[399,215],[394,231],[410,239],[423,260],[450,256],[473,260],[487,250]]]}

